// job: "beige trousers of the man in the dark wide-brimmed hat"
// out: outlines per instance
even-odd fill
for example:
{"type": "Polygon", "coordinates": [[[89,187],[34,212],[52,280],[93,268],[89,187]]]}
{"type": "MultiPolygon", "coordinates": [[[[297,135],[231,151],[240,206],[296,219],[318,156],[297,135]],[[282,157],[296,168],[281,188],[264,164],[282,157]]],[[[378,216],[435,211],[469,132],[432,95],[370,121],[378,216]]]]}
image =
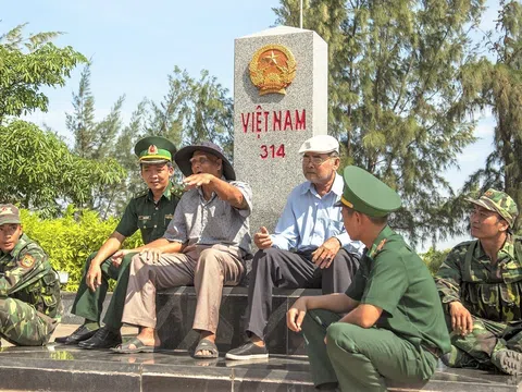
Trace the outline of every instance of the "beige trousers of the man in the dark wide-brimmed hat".
{"type": "Polygon", "coordinates": [[[215,333],[223,285],[237,285],[245,273],[241,252],[226,245],[196,245],[183,254],[162,254],[156,264],[136,255],[130,264],[122,321],[156,328],[157,290],[194,284],[197,304],[192,329],[215,333]]]}

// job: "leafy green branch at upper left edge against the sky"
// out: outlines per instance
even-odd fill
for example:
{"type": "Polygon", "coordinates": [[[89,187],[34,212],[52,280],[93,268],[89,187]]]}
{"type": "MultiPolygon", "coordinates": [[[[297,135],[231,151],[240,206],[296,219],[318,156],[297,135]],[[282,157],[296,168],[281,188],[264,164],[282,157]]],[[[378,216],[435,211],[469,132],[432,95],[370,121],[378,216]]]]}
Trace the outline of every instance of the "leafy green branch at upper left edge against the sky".
{"type": "Polygon", "coordinates": [[[41,86],[64,86],[71,71],[87,59],[71,47],[58,48],[51,39],[61,33],[23,36],[18,25],[0,36],[0,124],[7,115],[22,115],[35,109],[47,111],[41,86]]]}

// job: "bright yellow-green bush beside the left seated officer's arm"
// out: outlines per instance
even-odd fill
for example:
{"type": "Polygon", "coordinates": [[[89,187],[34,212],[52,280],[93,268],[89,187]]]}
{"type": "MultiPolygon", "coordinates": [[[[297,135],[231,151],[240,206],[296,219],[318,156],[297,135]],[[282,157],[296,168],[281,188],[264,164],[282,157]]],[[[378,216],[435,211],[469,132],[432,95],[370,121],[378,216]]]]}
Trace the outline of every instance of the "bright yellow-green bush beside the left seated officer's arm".
{"type": "MultiPolygon", "coordinates": [[[[49,255],[57,271],[69,272],[65,291],[75,292],[82,279],[87,257],[97,252],[117,225],[115,218],[101,220],[90,210],[67,207],[63,217],[41,219],[37,213],[21,210],[24,232],[49,255]]],[[[125,248],[142,245],[139,231],[125,240],[125,248]]]]}

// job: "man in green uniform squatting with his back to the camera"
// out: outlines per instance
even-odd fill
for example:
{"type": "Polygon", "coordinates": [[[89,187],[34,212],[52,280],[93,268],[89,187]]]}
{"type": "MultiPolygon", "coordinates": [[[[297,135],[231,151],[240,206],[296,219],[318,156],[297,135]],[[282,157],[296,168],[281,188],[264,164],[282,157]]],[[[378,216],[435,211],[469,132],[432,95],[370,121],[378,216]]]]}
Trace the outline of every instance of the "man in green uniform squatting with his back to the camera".
{"type": "Polygon", "coordinates": [[[366,252],[345,294],[297,299],[288,328],[302,331],[320,389],[369,392],[386,391],[386,380],[426,382],[450,348],[433,278],[387,225],[399,196],[357,167],[345,168],[344,181],[345,228],[366,252]]]}

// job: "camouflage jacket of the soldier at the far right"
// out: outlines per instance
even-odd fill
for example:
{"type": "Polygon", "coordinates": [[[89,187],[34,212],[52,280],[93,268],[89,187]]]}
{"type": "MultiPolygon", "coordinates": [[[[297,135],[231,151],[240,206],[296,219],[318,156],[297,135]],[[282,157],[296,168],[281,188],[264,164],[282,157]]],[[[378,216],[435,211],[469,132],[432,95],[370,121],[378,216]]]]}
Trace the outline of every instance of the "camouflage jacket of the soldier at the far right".
{"type": "Polygon", "coordinates": [[[448,254],[435,281],[444,305],[460,301],[475,317],[522,320],[522,237],[510,235],[495,265],[477,240],[461,243],[448,254]]]}

